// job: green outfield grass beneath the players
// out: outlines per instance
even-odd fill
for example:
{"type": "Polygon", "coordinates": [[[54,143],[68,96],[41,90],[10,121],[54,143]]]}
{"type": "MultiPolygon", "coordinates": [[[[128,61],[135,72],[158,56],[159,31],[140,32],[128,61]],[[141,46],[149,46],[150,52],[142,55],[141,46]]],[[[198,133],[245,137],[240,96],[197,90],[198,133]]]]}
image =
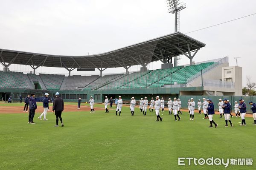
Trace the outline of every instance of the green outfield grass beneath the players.
{"type": "MultiPolygon", "coordinates": [[[[4,105],[7,104],[0,103],[4,105]]],[[[252,170],[256,167],[256,162],[253,166],[227,168],[177,165],[178,157],[256,161],[253,118],[246,118],[246,127],[239,126],[239,118],[232,118],[235,127],[224,127],[224,119],[215,115],[219,125],[215,129],[209,128],[209,121],[198,113],[190,121],[188,113],[183,112],[179,122],[167,111],[161,114],[163,122],[155,122],[155,112],[143,116],[138,108],[134,116],[128,107],[122,108],[121,116],[116,116],[114,110],[63,112],[64,127],[53,127],[52,113],[48,113],[46,122],[37,119],[38,111],[35,125],[27,123],[28,113],[0,114],[0,170],[252,170]]]]}

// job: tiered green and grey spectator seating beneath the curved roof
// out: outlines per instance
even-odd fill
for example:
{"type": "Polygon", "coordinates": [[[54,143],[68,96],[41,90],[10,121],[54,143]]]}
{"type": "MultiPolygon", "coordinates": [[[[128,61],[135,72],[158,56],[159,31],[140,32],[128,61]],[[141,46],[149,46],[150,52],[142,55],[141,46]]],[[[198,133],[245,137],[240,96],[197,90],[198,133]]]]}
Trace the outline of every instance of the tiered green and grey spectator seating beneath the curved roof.
{"type": "Polygon", "coordinates": [[[61,74],[23,74],[22,72],[0,71],[0,88],[33,87],[33,82],[41,81],[47,90],[93,90],[93,89],[123,89],[123,88],[157,88],[164,85],[185,84],[186,80],[193,78],[201,72],[216,64],[205,62],[186,67],[178,66],[167,69],[134,72],[131,74],[111,74],[100,77],[99,75],[65,77],[61,74]],[[172,78],[171,78],[172,76],[172,78]],[[171,82],[172,79],[172,82],[171,82]]]}

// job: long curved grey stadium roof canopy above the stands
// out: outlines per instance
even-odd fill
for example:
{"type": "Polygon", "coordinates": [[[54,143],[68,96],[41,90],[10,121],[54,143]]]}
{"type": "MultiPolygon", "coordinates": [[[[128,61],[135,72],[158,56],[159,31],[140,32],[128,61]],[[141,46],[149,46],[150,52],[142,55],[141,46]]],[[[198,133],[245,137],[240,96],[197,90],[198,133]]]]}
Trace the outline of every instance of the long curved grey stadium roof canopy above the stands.
{"type": "Polygon", "coordinates": [[[172,57],[186,55],[192,58],[205,44],[180,32],[140,42],[117,50],[85,56],[38,54],[0,49],[0,63],[8,68],[11,64],[30,65],[34,70],[40,66],[59,68],[128,68],[131,65],[145,67],[160,60],[166,63],[172,57]],[[191,54],[194,51],[194,54],[191,54]],[[8,64],[7,64],[8,63],[8,64]]]}

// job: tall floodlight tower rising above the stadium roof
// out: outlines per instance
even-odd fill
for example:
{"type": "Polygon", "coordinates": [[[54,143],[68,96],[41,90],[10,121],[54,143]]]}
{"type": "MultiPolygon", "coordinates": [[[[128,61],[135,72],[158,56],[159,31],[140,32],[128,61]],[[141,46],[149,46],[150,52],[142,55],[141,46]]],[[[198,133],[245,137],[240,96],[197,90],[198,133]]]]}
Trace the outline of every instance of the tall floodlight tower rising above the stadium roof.
{"type": "Polygon", "coordinates": [[[180,0],[166,0],[168,11],[175,14],[175,32],[180,31],[180,11],[186,8],[186,3],[180,0]]]}

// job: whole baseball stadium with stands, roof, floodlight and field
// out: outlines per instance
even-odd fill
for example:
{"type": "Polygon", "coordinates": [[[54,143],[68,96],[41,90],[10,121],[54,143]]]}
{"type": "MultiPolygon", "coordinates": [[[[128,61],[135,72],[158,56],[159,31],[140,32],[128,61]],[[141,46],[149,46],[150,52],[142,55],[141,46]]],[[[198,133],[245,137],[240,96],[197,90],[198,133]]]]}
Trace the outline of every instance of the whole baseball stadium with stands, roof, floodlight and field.
{"type": "Polygon", "coordinates": [[[227,56],[195,62],[206,43],[179,31],[186,4],[166,3],[175,14],[173,33],[112,51],[76,56],[0,47],[1,170],[255,169],[256,97],[242,94],[243,68],[227,56]],[[149,69],[154,62],[161,68],[149,69]]]}

